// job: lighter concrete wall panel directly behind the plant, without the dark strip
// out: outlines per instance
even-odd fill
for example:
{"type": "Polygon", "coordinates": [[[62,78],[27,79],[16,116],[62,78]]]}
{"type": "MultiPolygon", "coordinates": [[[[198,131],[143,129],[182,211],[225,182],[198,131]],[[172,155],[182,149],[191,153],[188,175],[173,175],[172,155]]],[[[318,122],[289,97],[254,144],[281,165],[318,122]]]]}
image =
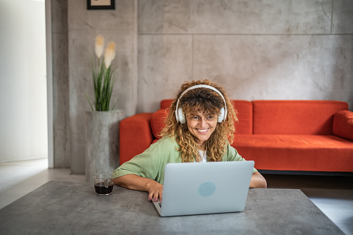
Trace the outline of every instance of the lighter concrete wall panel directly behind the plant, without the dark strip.
{"type": "Polygon", "coordinates": [[[87,10],[87,1],[68,1],[69,29],[69,119],[71,130],[71,171],[85,172],[85,111],[90,110],[85,93],[93,95],[89,53],[96,35],[105,37],[105,45],[116,42],[117,67],[112,101],[119,98],[116,109],[135,114],[137,87],[134,77],[136,42],[135,1],[116,1],[116,10],[87,10]]]}

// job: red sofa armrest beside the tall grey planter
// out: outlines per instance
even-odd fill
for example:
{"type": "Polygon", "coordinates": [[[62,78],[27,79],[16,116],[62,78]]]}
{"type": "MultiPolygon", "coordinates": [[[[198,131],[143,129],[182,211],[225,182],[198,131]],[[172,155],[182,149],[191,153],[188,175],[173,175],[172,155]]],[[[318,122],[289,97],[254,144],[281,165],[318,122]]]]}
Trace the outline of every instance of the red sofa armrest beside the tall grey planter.
{"type": "Polygon", "coordinates": [[[120,157],[123,164],[144,152],[153,141],[150,130],[152,113],[141,113],[123,119],[119,124],[120,157]]]}

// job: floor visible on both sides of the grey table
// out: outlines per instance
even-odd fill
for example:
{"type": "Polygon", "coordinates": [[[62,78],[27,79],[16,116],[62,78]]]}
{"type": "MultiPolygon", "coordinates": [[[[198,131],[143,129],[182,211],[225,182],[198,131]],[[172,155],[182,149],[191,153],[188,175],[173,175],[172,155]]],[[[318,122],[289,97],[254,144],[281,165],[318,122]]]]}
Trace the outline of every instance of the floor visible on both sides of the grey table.
{"type": "MultiPolygon", "coordinates": [[[[0,164],[0,209],[50,181],[85,182],[69,169],[48,169],[47,159],[0,164]]],[[[353,235],[353,177],[264,175],[268,188],[301,189],[345,234],[353,235]]]]}

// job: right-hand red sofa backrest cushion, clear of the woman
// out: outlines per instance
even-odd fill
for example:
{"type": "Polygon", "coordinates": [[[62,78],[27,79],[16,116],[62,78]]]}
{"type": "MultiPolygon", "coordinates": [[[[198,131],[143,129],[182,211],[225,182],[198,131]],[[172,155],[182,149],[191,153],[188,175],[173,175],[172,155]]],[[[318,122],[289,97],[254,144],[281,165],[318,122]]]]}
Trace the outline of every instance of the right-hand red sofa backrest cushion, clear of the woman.
{"type": "Polygon", "coordinates": [[[254,134],[333,134],[342,101],[252,101],[254,134]]]}

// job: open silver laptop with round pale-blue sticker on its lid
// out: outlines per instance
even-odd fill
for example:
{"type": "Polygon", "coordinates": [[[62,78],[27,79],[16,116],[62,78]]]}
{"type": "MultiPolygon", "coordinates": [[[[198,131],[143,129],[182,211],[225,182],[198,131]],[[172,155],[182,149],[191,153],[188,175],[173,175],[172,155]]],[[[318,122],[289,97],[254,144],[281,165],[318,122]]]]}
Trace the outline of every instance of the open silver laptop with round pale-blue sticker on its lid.
{"type": "Polygon", "coordinates": [[[243,211],[254,162],[166,164],[160,216],[243,211]]]}

